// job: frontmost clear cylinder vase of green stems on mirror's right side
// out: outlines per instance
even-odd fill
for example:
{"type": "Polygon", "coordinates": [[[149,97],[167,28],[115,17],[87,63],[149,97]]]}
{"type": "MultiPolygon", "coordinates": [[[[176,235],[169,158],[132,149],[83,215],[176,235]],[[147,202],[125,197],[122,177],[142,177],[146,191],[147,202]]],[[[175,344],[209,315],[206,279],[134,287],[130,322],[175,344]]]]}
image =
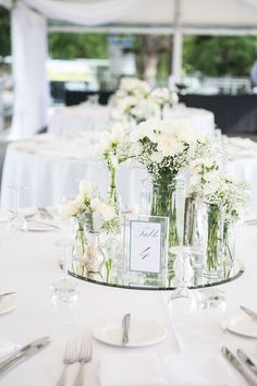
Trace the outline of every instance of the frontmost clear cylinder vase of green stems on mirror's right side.
{"type": "Polygon", "coordinates": [[[207,238],[204,254],[204,275],[217,279],[222,272],[223,209],[220,205],[207,205],[207,238]]]}

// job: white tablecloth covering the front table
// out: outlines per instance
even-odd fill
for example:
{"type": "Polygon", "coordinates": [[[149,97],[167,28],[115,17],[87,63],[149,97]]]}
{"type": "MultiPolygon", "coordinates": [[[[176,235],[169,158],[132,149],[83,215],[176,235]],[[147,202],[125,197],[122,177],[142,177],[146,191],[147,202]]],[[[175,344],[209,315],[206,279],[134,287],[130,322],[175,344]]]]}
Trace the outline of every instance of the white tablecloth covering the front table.
{"type": "MultiPolygon", "coordinates": [[[[124,355],[126,361],[131,354],[149,353],[169,360],[171,353],[192,353],[192,358],[197,362],[197,358],[203,357],[203,353],[216,353],[221,358],[220,348],[225,345],[233,351],[242,348],[253,360],[257,360],[255,339],[233,335],[222,330],[220,326],[220,322],[236,312],[240,304],[257,310],[256,226],[244,226],[236,238],[236,256],[244,262],[246,269],[241,278],[221,287],[225,291],[227,311],[201,310],[194,317],[185,316],[183,323],[176,325],[175,334],[169,324],[163,302],[163,297],[169,295],[168,292],[161,294],[159,291],[117,289],[71,278],[79,285],[77,304],[71,306],[70,313],[68,306],[53,305],[50,285],[61,277],[58,266],[61,249],[56,246],[56,241],[62,236],[58,231],[10,234],[4,231],[3,225],[0,228],[1,292],[14,290],[17,293],[17,307],[0,315],[0,341],[10,340],[23,345],[41,336],[51,337],[49,347],[2,377],[0,385],[56,385],[63,369],[61,360],[65,342],[78,335],[90,333],[98,323],[121,321],[127,312],[132,317],[158,319],[168,328],[167,338],[155,346],[137,349],[115,348],[94,340],[93,362],[85,369],[85,385],[99,385],[97,367],[103,357],[111,360],[117,355],[124,355]]],[[[191,374],[193,367],[193,364],[187,365],[184,370],[182,367],[182,372],[191,374]]],[[[69,369],[71,379],[76,369],[76,365],[69,369]]],[[[229,364],[228,370],[237,379],[236,383],[231,381],[231,384],[246,386],[245,381],[229,364]]],[[[119,369],[117,371],[119,372],[119,369]]],[[[211,372],[210,367],[209,371],[211,372]]],[[[71,385],[72,383],[68,384],[71,385]]]]}

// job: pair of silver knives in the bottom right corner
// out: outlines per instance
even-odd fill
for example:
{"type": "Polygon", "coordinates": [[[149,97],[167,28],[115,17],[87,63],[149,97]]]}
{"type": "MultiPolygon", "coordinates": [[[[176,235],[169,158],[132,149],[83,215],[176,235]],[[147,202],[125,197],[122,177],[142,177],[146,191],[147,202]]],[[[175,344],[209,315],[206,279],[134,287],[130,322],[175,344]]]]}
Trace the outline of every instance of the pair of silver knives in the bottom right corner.
{"type": "Polygon", "coordinates": [[[244,376],[250,386],[257,386],[257,366],[249,357],[241,349],[236,351],[237,358],[228,347],[221,349],[224,358],[244,376]]]}

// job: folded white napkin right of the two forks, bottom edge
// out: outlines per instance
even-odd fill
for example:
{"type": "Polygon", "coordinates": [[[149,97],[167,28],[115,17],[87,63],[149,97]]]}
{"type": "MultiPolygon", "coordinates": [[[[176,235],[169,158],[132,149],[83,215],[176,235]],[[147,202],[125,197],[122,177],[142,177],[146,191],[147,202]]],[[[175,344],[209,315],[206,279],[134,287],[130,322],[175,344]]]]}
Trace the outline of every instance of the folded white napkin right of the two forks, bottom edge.
{"type": "Polygon", "coordinates": [[[155,354],[115,354],[99,364],[100,386],[166,385],[160,361],[155,354]]]}

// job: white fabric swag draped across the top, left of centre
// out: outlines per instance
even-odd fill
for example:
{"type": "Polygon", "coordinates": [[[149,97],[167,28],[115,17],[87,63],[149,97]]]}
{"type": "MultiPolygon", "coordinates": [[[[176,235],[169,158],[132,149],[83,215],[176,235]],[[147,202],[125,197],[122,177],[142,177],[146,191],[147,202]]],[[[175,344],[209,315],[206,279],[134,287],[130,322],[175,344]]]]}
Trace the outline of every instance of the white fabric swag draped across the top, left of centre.
{"type": "Polygon", "coordinates": [[[38,10],[46,16],[54,20],[99,25],[113,22],[127,11],[136,9],[142,0],[101,0],[87,2],[54,1],[54,0],[24,0],[27,5],[38,10]]]}

